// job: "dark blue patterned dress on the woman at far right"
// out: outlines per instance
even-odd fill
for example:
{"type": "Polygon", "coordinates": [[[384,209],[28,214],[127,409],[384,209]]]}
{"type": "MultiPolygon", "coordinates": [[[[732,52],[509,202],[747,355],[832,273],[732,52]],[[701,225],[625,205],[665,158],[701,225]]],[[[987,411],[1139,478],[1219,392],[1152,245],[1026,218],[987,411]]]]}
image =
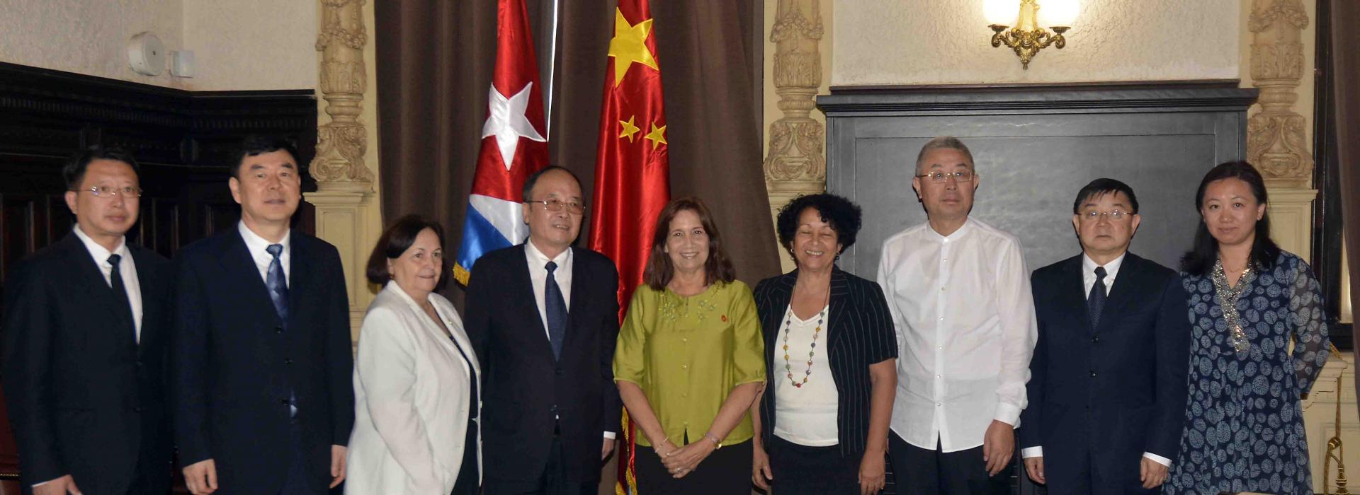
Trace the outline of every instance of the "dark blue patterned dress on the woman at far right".
{"type": "Polygon", "coordinates": [[[1238,339],[1213,277],[1182,281],[1193,327],[1190,403],[1164,492],[1312,494],[1299,395],[1322,372],[1329,347],[1308,264],[1281,251],[1272,270],[1243,277],[1238,339]]]}

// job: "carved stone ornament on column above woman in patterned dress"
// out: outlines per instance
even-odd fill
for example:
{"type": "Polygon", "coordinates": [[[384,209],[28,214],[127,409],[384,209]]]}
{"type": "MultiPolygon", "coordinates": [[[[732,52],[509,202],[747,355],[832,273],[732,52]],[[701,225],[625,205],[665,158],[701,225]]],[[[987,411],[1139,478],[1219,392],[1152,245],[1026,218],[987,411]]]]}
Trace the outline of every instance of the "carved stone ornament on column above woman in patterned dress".
{"type": "Polygon", "coordinates": [[[1261,88],[1261,111],[1247,121],[1247,160],[1266,179],[1296,187],[1311,183],[1314,167],[1304,140],[1307,123],[1292,110],[1303,77],[1306,27],[1302,0],[1255,0],[1247,20],[1253,85],[1261,88]]]}

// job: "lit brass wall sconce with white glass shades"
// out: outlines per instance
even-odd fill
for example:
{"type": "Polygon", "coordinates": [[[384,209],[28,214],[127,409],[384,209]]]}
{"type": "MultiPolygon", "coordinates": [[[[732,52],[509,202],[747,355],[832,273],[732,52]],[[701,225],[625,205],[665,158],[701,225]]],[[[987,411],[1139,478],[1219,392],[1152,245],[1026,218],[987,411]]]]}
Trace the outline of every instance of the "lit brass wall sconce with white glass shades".
{"type": "Polygon", "coordinates": [[[1039,50],[1049,45],[1059,50],[1068,46],[1062,34],[1070,28],[1078,8],[1077,0],[1044,0],[1043,8],[1039,7],[1039,0],[1020,0],[1019,7],[1016,11],[1016,0],[983,0],[982,11],[987,24],[996,31],[991,46],[1006,45],[1028,71],[1030,60],[1039,50]],[[1039,26],[1049,26],[1053,33],[1039,26]]]}

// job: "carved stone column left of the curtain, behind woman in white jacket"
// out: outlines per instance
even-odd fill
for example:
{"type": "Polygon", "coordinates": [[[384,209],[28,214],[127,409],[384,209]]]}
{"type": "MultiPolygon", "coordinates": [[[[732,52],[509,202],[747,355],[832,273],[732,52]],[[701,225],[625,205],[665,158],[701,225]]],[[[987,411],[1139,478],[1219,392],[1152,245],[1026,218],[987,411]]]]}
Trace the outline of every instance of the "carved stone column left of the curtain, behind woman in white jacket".
{"type": "Polygon", "coordinates": [[[369,87],[363,61],[369,43],[364,27],[364,0],[321,0],[321,96],[330,122],[317,127],[317,156],[311,176],[317,191],[306,194],[317,209],[317,236],[340,251],[350,289],[350,327],[358,336],[363,312],[373,298],[363,277],[377,207],[374,174],[364,165],[369,152],[367,127],[360,122],[363,94],[369,87]]]}

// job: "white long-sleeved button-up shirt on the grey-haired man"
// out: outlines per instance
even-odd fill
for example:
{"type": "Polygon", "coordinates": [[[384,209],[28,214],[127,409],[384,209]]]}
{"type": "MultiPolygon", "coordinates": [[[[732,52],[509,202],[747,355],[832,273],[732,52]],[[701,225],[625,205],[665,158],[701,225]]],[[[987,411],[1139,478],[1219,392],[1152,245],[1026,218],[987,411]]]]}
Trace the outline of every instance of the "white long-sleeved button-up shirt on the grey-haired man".
{"type": "Polygon", "coordinates": [[[1020,426],[1038,338],[1020,240],[972,218],[949,236],[917,225],[883,243],[879,285],[900,355],[892,431],[959,452],[991,420],[1020,426]]]}

